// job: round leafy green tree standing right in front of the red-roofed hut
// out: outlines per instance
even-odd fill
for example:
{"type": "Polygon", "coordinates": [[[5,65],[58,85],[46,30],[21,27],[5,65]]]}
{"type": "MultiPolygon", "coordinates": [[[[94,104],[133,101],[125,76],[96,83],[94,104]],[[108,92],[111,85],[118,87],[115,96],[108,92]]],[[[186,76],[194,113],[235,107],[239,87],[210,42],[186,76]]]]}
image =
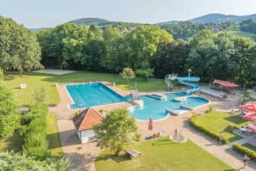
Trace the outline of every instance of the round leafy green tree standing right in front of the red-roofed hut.
{"type": "Polygon", "coordinates": [[[135,118],[129,117],[126,108],[114,109],[103,118],[102,124],[93,127],[98,140],[96,146],[109,148],[118,155],[137,129],[135,118]]]}

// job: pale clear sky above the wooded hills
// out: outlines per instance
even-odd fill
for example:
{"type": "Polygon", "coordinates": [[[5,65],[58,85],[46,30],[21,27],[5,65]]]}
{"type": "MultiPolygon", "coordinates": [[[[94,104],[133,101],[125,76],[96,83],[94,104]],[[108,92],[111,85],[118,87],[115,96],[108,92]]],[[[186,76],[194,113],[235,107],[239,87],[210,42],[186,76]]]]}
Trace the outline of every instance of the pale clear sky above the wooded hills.
{"type": "Polygon", "coordinates": [[[256,0],[0,0],[0,16],[27,28],[53,27],[72,19],[160,23],[209,13],[256,13],[256,0]]]}

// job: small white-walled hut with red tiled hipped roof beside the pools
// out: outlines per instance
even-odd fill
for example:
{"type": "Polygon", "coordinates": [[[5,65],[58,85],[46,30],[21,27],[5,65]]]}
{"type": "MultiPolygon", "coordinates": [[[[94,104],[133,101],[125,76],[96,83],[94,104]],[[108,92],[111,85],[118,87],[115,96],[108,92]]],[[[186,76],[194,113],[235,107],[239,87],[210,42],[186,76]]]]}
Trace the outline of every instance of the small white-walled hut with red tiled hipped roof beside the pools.
{"type": "Polygon", "coordinates": [[[96,112],[96,110],[90,107],[73,117],[72,120],[81,143],[96,141],[93,125],[101,124],[102,118],[102,113],[96,112]]]}

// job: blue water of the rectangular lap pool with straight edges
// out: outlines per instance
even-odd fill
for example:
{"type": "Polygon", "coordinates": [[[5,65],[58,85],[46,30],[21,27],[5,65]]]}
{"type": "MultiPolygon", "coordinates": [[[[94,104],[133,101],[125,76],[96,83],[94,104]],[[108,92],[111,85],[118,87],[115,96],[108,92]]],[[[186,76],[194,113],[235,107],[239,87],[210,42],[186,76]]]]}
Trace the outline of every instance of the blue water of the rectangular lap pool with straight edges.
{"type": "Polygon", "coordinates": [[[72,110],[88,106],[101,106],[127,101],[126,98],[100,82],[66,86],[66,89],[75,103],[69,105],[72,110]]]}

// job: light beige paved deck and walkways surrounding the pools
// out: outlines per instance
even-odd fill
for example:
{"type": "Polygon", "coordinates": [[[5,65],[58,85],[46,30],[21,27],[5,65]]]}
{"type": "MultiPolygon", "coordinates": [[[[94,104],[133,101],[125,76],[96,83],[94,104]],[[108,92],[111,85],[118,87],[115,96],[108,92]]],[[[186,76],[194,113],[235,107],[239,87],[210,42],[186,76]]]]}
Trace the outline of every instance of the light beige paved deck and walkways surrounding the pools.
{"type": "MultiPolygon", "coordinates": [[[[110,89],[114,89],[114,91],[120,93],[123,96],[130,95],[130,92],[125,92],[124,90],[118,89],[116,86],[112,86],[110,82],[104,82],[110,89]]],[[[95,160],[96,156],[100,154],[100,148],[96,147],[96,142],[91,142],[87,144],[80,144],[79,139],[77,137],[75,126],[72,123],[72,116],[75,111],[79,110],[69,110],[68,104],[72,103],[70,96],[68,96],[68,92],[65,90],[64,86],[57,86],[61,103],[57,106],[49,107],[50,113],[55,113],[58,118],[58,129],[61,137],[61,144],[63,146],[63,150],[65,156],[68,157],[71,161],[71,165],[69,166],[69,170],[96,170],[95,160]]],[[[178,89],[177,91],[181,91],[178,89]]],[[[165,92],[165,91],[161,91],[165,92]]],[[[160,92],[160,93],[161,93],[160,92]]],[[[152,94],[159,92],[140,92],[139,94],[152,94]]],[[[229,101],[222,101],[220,99],[216,99],[212,96],[202,95],[199,92],[194,93],[196,96],[202,96],[211,101],[211,104],[215,106],[216,110],[230,112],[230,109],[237,106],[238,100],[240,99],[239,93],[237,95],[230,95],[229,101]]],[[[115,107],[129,107],[132,106],[131,103],[117,103],[117,104],[108,104],[107,106],[97,106],[93,107],[96,110],[100,110],[103,107],[103,110],[112,110],[115,107]]],[[[80,109],[81,110],[81,109],[80,109]]],[[[202,110],[207,110],[207,106],[202,106],[198,109],[195,109],[195,112],[200,112],[202,110]]],[[[212,153],[217,158],[223,160],[230,166],[233,166],[234,169],[241,169],[243,166],[243,156],[234,152],[227,145],[219,145],[219,143],[209,136],[205,136],[205,134],[201,134],[198,131],[195,131],[189,124],[189,118],[191,117],[192,112],[188,111],[180,116],[170,115],[165,120],[153,121],[153,131],[148,130],[148,122],[147,121],[139,121],[136,120],[136,125],[139,127],[139,134],[142,134],[142,141],[144,137],[149,136],[149,134],[153,134],[153,132],[165,131],[164,136],[174,134],[174,129],[181,129],[181,134],[186,136],[191,141],[195,142],[195,144],[204,148],[206,151],[212,153]]],[[[243,170],[243,169],[242,169],[243,170]]],[[[256,164],[254,162],[248,161],[248,167],[246,170],[256,170],[256,164]]]]}

